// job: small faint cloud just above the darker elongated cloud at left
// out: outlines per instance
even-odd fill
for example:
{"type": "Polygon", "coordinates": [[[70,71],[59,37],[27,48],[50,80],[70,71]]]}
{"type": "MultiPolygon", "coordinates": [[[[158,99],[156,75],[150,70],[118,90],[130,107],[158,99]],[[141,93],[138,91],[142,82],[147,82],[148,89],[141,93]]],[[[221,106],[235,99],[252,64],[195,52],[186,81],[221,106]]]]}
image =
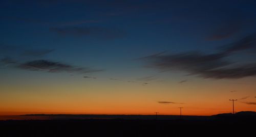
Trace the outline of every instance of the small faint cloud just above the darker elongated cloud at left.
{"type": "Polygon", "coordinates": [[[52,51],[54,51],[54,49],[30,49],[30,50],[25,50],[21,55],[29,56],[29,57],[41,57],[41,56],[45,56],[46,54],[52,51]]]}

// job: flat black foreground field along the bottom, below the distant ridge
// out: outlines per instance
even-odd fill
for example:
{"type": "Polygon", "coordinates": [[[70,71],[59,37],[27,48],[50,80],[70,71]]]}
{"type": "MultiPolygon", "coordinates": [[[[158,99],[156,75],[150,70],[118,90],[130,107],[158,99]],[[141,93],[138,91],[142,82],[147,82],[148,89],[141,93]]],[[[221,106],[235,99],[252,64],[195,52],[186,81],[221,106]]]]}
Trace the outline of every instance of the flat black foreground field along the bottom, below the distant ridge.
{"type": "Polygon", "coordinates": [[[1,121],[0,136],[254,136],[256,121],[25,120],[1,121]]]}

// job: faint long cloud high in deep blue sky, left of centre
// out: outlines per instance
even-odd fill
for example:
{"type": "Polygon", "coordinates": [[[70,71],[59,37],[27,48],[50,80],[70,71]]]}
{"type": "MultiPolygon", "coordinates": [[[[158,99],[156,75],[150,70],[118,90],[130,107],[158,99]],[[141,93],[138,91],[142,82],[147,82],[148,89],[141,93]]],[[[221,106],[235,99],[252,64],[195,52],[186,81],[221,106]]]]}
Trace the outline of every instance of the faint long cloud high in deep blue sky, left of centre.
{"type": "Polygon", "coordinates": [[[51,32],[57,33],[61,36],[90,36],[96,38],[122,38],[124,37],[124,32],[118,29],[110,29],[103,27],[56,27],[50,28],[51,32]]]}

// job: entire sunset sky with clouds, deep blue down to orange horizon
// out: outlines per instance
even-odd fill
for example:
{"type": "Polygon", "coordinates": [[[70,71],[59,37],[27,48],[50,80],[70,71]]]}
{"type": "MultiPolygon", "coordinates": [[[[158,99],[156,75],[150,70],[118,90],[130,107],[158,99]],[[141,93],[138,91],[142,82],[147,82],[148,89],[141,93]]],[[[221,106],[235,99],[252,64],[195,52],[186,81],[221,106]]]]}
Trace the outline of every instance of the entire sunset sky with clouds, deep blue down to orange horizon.
{"type": "Polygon", "coordinates": [[[255,1],[0,2],[0,115],[256,111],[255,1]]]}

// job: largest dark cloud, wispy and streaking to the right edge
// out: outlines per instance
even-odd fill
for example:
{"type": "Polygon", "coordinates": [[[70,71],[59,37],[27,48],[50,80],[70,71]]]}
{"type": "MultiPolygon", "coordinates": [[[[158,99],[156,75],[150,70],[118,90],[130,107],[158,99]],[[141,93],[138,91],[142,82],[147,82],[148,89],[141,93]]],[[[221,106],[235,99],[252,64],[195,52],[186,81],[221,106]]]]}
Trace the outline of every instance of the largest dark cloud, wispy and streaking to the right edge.
{"type": "Polygon", "coordinates": [[[222,48],[220,52],[205,54],[186,52],[177,54],[157,53],[153,56],[140,58],[150,63],[149,67],[165,71],[184,71],[191,75],[214,79],[237,79],[256,75],[256,63],[233,65],[227,57],[237,51],[251,49],[256,46],[255,35],[249,35],[237,42],[222,48]]]}

